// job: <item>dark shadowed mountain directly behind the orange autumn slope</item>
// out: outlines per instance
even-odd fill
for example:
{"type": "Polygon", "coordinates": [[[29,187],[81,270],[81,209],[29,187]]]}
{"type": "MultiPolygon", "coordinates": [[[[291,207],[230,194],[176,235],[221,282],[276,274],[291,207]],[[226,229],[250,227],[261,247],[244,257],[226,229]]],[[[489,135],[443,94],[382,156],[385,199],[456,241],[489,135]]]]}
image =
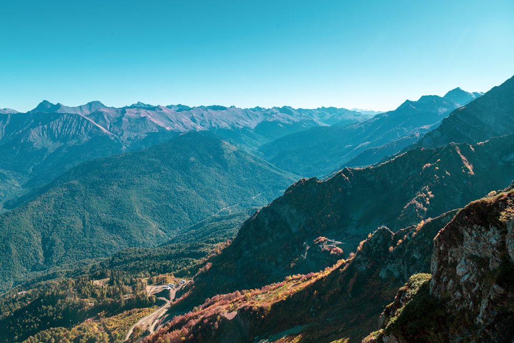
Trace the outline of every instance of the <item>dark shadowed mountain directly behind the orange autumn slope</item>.
{"type": "Polygon", "coordinates": [[[418,148],[376,167],[343,169],[325,181],[300,180],[242,225],[196,281],[197,298],[332,265],[331,249],[316,242],[320,236],[347,256],[379,226],[397,231],[503,189],[514,179],[512,149],[514,135],[474,146],[418,148]]]}

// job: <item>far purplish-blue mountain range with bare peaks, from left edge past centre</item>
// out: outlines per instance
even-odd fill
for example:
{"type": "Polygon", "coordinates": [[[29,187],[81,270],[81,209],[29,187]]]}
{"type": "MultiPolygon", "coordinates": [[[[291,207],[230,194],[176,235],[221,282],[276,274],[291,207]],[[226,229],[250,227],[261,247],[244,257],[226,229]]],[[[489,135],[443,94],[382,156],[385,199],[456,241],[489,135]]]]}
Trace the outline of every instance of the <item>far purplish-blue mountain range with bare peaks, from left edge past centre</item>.
{"type": "Polygon", "coordinates": [[[117,109],[99,101],[76,107],[43,101],[28,113],[0,115],[0,169],[15,180],[13,187],[0,186],[0,204],[82,161],[144,149],[184,132],[210,130],[256,149],[291,132],[364,118],[368,116],[334,108],[163,107],[138,102],[117,109]]]}

